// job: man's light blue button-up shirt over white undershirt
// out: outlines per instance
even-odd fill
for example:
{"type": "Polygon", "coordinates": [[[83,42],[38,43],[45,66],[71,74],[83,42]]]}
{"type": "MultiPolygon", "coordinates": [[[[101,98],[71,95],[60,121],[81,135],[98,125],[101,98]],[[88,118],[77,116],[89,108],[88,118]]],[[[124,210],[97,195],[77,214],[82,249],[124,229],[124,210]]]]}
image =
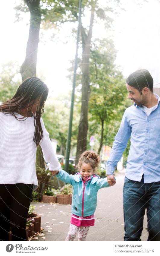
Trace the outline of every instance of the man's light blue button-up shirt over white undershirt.
{"type": "Polygon", "coordinates": [[[107,161],[107,174],[113,174],[115,166],[127,147],[130,138],[130,151],[127,159],[126,177],[144,183],[160,181],[160,97],[158,105],[149,116],[142,106],[127,108],[121,126],[115,136],[110,157],[107,161]]]}

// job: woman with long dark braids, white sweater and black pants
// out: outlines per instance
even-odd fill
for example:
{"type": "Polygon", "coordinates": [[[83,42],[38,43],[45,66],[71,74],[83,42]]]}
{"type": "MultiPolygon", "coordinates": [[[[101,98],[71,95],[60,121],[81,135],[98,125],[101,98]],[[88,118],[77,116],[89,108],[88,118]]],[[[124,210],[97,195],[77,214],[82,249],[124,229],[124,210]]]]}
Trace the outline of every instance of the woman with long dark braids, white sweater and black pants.
{"type": "Polygon", "coordinates": [[[48,87],[27,78],[12,99],[0,105],[0,241],[26,241],[26,219],[36,177],[36,150],[42,147],[50,170],[59,170],[41,115],[48,87]]]}

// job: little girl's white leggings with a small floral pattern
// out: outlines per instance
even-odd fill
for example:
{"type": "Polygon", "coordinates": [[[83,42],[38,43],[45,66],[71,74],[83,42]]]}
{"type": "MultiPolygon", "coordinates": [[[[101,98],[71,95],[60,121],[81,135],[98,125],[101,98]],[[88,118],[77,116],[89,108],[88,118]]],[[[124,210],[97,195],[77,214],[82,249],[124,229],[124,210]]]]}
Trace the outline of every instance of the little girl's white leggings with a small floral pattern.
{"type": "Polygon", "coordinates": [[[78,241],[86,241],[88,230],[89,230],[89,226],[77,227],[73,224],[70,224],[70,228],[65,241],[73,241],[77,235],[77,232],[78,232],[78,241]]]}

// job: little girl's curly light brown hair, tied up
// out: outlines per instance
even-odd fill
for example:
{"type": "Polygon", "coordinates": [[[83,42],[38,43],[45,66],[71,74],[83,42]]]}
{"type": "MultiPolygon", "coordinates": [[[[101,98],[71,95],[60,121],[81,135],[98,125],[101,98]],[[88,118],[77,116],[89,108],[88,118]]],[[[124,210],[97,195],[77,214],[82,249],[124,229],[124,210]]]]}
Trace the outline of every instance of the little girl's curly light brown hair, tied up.
{"type": "Polygon", "coordinates": [[[84,151],[81,154],[79,162],[76,167],[80,170],[82,163],[89,163],[92,166],[93,170],[96,170],[98,169],[99,162],[99,155],[93,151],[88,150],[84,151]]]}

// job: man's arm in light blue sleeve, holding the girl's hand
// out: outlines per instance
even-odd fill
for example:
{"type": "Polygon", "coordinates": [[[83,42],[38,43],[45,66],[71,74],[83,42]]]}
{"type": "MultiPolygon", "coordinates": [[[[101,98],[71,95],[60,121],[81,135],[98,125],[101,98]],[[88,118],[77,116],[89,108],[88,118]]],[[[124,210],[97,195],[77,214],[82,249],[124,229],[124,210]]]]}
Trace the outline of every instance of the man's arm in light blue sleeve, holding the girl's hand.
{"type": "Polygon", "coordinates": [[[115,179],[114,179],[115,166],[117,165],[119,160],[121,160],[123,152],[127,147],[127,143],[130,138],[130,135],[131,135],[131,127],[127,121],[127,110],[126,110],[124,112],[123,119],[122,119],[120,128],[118,130],[118,133],[115,136],[115,141],[111,149],[111,154],[107,161],[106,174],[107,174],[107,181],[110,185],[115,185],[115,179]]]}

